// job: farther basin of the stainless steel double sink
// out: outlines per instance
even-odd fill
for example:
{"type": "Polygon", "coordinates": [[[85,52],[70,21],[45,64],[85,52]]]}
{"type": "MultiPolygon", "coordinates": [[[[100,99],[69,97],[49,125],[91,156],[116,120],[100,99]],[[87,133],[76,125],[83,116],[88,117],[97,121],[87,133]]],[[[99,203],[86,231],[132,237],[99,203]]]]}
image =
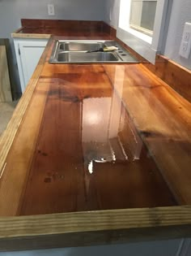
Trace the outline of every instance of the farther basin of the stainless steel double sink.
{"type": "Polygon", "coordinates": [[[66,51],[87,51],[87,50],[99,50],[104,48],[104,43],[94,41],[66,41],[59,45],[60,50],[66,51]]]}

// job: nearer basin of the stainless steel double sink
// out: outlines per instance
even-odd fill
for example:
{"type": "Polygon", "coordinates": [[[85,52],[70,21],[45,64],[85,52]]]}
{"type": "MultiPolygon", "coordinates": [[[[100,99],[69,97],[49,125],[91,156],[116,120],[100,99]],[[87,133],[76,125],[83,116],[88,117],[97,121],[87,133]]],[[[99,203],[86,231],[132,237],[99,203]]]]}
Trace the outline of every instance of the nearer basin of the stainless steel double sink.
{"type": "Polygon", "coordinates": [[[113,53],[82,53],[82,52],[61,52],[57,55],[58,62],[66,63],[86,63],[86,62],[110,62],[118,61],[118,57],[113,53]]]}

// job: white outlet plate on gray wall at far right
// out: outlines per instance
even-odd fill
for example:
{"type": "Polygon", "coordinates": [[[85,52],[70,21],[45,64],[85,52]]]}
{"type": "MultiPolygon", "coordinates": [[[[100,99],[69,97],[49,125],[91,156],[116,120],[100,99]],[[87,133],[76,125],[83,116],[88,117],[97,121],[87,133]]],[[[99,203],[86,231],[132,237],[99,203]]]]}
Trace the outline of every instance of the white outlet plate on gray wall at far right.
{"type": "Polygon", "coordinates": [[[191,23],[186,22],[184,32],[182,34],[182,41],[180,44],[179,54],[185,59],[189,59],[191,50],[191,23]]]}

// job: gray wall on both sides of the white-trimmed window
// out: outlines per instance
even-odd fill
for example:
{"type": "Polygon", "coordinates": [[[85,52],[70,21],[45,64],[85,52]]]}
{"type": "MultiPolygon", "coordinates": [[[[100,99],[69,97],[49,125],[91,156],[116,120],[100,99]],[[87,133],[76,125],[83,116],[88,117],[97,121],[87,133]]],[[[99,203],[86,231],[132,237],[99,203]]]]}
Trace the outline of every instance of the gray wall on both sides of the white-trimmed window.
{"type": "MultiPolygon", "coordinates": [[[[119,0],[105,0],[105,21],[117,28],[119,19],[119,0]]],[[[171,0],[172,11],[170,15],[167,40],[164,41],[163,52],[169,59],[191,69],[191,54],[189,59],[180,57],[179,48],[185,22],[191,22],[191,0],[171,0]]]]}

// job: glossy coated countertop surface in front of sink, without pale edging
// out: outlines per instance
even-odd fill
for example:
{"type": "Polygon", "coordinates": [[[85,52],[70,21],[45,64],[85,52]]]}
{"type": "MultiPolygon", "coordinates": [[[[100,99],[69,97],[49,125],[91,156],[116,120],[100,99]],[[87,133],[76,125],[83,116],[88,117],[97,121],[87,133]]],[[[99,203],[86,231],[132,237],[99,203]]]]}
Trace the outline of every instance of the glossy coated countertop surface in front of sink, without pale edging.
{"type": "Polygon", "coordinates": [[[189,102],[141,65],[45,63],[7,157],[0,214],[176,205],[168,186],[189,203],[189,131],[189,102]]]}

